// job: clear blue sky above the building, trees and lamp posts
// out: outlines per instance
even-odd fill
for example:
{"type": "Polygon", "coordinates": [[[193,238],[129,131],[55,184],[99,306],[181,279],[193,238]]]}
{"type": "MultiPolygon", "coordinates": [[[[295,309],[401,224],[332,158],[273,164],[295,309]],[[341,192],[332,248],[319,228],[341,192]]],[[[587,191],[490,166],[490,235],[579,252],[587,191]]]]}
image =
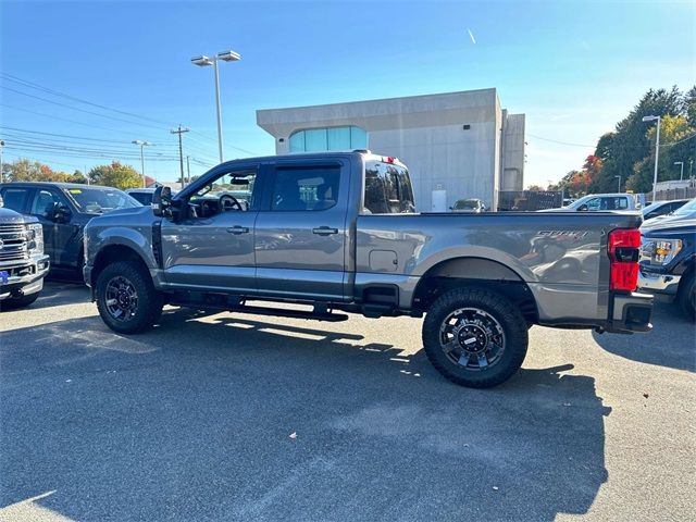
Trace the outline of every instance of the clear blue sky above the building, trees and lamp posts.
{"type": "Polygon", "coordinates": [[[243,55],[221,64],[225,159],[273,153],[257,109],[496,87],[502,107],[526,114],[525,185],[580,167],[647,89],[696,82],[691,1],[3,0],[0,10],[5,159],[67,172],[112,158],[139,170],[130,141],[147,139],[146,172],[174,179],[178,123],[195,130],[184,136],[191,174],[214,164],[212,67],[189,60],[224,49],[243,55]]]}

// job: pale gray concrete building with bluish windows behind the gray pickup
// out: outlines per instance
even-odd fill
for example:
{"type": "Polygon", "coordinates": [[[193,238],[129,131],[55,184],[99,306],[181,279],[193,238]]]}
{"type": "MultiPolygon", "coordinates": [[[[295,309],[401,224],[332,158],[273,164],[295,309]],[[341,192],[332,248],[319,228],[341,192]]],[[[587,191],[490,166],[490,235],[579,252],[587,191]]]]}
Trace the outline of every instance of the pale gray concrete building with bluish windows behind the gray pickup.
{"type": "Polygon", "coordinates": [[[500,190],[522,190],[524,114],[501,109],[496,89],[257,111],[278,154],[370,149],[408,165],[420,211],[500,190]]]}

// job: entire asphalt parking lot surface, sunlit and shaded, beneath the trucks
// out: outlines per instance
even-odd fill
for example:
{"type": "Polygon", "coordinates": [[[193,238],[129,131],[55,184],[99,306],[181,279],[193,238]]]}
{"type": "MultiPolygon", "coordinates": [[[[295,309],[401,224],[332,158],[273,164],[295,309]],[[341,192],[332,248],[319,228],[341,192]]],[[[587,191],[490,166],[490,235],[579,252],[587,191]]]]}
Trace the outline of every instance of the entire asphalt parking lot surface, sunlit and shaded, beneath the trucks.
{"type": "Polygon", "coordinates": [[[489,390],[421,321],[171,309],[109,331],[48,283],[0,315],[0,520],[696,520],[694,323],[533,327],[489,390]]]}

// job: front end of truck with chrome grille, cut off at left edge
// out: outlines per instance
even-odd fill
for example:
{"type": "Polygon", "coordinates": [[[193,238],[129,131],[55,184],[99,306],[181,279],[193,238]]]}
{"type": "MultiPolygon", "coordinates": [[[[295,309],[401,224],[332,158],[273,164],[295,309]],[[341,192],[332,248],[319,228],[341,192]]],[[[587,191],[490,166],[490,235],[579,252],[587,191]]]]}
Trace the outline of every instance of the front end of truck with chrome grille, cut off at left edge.
{"type": "Polygon", "coordinates": [[[28,307],[50,266],[36,217],[2,208],[0,198],[0,310],[28,307]]]}

